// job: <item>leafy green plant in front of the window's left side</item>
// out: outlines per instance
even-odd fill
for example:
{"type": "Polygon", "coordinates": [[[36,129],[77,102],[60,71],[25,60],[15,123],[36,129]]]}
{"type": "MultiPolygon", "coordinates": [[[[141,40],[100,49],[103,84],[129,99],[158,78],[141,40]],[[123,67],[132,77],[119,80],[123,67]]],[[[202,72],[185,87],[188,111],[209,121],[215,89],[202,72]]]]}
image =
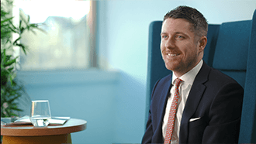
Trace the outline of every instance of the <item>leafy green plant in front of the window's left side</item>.
{"type": "Polygon", "coordinates": [[[1,117],[18,116],[18,112],[22,111],[18,108],[16,100],[25,91],[16,79],[16,66],[19,63],[18,57],[12,55],[13,48],[18,46],[26,54],[27,46],[19,43],[22,33],[26,30],[34,33],[34,29],[39,29],[38,24],[29,23],[29,16],[28,19],[20,17],[19,26],[15,26],[8,10],[9,7],[12,8],[12,2],[6,0],[2,3],[1,1],[1,117]],[[19,35],[15,40],[12,40],[13,33],[19,35]]]}

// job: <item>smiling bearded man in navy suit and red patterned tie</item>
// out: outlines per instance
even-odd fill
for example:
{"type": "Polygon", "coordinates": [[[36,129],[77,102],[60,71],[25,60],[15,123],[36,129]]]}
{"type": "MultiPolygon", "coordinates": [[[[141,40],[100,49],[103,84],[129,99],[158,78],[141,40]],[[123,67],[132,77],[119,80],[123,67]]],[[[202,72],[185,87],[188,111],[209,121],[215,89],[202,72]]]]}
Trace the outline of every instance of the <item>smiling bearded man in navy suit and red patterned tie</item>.
{"type": "Polygon", "coordinates": [[[238,142],[244,89],[203,62],[207,30],[196,9],[164,15],[161,55],[172,74],[154,86],[142,143],[238,142]]]}

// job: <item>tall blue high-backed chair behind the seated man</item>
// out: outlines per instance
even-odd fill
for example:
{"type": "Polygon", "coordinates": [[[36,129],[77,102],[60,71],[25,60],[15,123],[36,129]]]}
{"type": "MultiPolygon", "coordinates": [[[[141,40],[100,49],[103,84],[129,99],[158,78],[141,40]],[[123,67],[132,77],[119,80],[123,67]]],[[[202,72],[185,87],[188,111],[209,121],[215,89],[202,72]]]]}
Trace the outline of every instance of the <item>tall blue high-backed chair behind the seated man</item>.
{"type": "MultiPolygon", "coordinates": [[[[150,94],[160,78],[171,73],[161,58],[162,21],[150,23],[147,67],[146,121],[150,94]]],[[[209,25],[203,60],[244,87],[239,143],[256,142],[256,10],[252,20],[209,25]]]]}

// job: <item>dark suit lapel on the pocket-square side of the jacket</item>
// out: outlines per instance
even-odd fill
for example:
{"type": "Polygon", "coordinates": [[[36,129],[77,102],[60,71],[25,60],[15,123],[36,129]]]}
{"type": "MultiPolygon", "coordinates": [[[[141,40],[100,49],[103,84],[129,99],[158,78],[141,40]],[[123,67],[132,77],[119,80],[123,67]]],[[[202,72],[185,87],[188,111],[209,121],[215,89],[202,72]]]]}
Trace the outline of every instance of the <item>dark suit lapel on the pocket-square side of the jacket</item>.
{"type": "Polygon", "coordinates": [[[195,113],[196,108],[202,98],[202,94],[206,89],[204,83],[208,80],[210,67],[206,64],[202,64],[199,74],[196,75],[195,81],[192,84],[191,90],[189,92],[189,97],[186,101],[185,108],[182,114],[182,122],[180,126],[180,143],[187,143],[189,135],[189,119],[195,113]]]}

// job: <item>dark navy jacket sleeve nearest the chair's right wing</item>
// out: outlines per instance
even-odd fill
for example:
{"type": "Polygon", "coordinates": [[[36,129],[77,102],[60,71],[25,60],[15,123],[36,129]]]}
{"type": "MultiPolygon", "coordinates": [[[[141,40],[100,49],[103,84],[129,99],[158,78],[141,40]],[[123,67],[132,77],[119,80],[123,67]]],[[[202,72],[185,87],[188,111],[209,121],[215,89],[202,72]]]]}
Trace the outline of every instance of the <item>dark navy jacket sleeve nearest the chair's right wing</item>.
{"type": "Polygon", "coordinates": [[[216,93],[202,143],[238,143],[244,89],[233,83],[216,93]]]}

